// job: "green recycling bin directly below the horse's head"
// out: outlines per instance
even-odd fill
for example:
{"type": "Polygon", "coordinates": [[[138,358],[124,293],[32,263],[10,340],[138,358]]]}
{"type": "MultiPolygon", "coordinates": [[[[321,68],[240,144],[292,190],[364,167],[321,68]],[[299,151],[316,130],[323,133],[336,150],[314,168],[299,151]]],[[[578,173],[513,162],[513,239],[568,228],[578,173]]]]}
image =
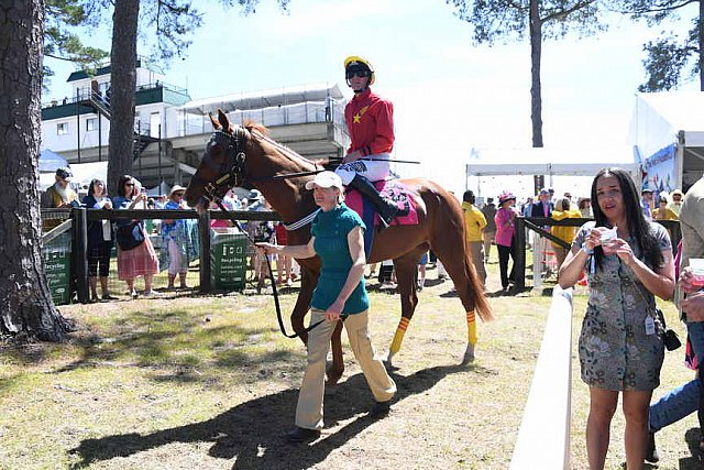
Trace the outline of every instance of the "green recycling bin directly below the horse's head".
{"type": "Polygon", "coordinates": [[[233,228],[211,230],[212,285],[218,289],[242,291],[246,281],[246,237],[233,228]]]}

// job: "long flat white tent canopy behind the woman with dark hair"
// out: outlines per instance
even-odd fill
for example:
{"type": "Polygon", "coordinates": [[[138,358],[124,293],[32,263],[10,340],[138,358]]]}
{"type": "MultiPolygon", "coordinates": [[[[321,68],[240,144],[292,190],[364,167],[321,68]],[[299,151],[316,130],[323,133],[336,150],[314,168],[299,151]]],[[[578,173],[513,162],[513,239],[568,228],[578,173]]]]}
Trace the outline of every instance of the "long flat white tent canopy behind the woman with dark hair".
{"type": "Polygon", "coordinates": [[[485,149],[473,147],[466,176],[565,175],[594,176],[600,170],[617,166],[638,179],[639,165],[627,147],[583,149],[485,149]]]}

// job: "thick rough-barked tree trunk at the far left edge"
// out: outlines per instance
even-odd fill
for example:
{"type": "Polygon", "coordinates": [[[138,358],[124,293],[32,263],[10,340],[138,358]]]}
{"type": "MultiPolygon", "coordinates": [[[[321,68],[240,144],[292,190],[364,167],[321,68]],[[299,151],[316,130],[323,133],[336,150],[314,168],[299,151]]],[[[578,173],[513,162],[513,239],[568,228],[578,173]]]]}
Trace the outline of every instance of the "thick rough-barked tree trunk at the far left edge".
{"type": "Polygon", "coordinates": [[[61,341],[42,259],[38,157],[44,1],[0,14],[0,332],[61,341]]]}

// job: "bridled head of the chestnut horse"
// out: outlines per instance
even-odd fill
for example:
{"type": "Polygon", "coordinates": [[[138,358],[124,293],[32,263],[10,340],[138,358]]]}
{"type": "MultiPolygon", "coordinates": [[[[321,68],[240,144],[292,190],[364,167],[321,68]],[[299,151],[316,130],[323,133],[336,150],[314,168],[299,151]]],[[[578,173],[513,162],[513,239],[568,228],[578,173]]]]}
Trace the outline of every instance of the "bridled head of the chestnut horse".
{"type": "Polygon", "coordinates": [[[210,114],[215,132],[206,145],[198,171],[190,178],[185,199],[197,210],[208,208],[207,199],[223,197],[228,189],[244,184],[245,141],[248,131],[230,124],[228,117],[218,109],[218,119],[210,114]]]}

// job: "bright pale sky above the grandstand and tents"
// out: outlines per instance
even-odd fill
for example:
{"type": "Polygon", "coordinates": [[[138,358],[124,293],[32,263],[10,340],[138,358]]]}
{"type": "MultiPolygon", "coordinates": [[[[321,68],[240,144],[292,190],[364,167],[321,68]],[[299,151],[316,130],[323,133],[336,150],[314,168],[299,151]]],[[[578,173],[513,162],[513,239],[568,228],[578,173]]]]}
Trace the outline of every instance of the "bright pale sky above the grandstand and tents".
{"type": "MultiPolygon", "coordinates": [[[[442,0],[292,0],[287,14],[264,0],[246,18],[211,3],[201,7],[205,24],[186,58],[167,69],[167,81],[187,86],[194,99],[321,81],[348,92],[342,61],[362,55],[376,68],[374,90],[394,101],[396,157],[424,162],[399,165],[403,175],[462,192],[473,146],[531,144],[528,41],[475,47],[470,25],[442,0]]],[[[634,94],[645,78],[642,44],[664,26],[610,20],[598,35],[543,43],[546,146],[627,151],[634,94]]],[[[57,76],[48,96],[63,97],[72,68],[50,66],[57,76]]],[[[515,184],[494,178],[483,188],[515,184]]]]}

